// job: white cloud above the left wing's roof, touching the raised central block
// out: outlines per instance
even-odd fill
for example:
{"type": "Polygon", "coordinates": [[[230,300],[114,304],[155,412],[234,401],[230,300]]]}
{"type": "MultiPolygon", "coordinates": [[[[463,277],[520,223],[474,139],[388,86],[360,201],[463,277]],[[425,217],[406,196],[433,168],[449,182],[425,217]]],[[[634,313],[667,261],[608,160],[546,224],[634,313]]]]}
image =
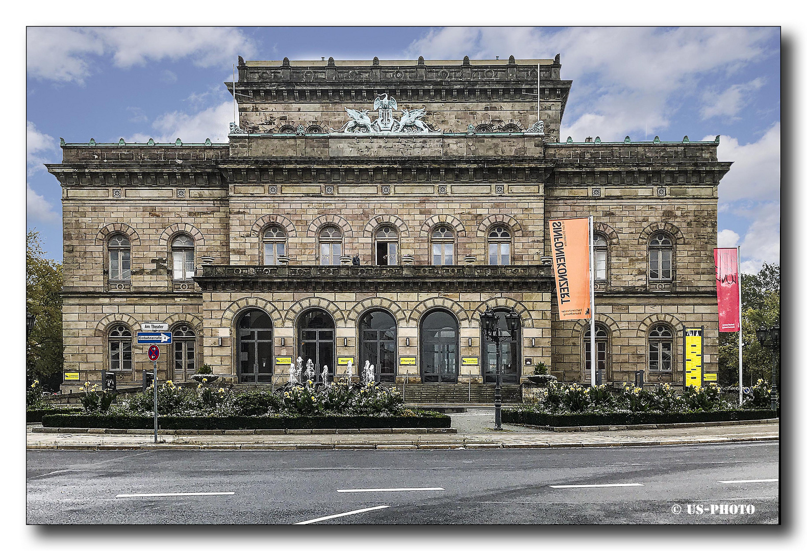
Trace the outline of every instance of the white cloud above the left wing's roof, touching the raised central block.
{"type": "Polygon", "coordinates": [[[126,141],[145,142],[151,137],[161,143],[175,142],[177,138],[185,143],[201,143],[206,138],[213,142],[227,142],[231,121],[232,102],[224,102],[194,114],[172,111],[154,120],[152,127],[157,131],[157,136],[136,134],[126,141]]]}

